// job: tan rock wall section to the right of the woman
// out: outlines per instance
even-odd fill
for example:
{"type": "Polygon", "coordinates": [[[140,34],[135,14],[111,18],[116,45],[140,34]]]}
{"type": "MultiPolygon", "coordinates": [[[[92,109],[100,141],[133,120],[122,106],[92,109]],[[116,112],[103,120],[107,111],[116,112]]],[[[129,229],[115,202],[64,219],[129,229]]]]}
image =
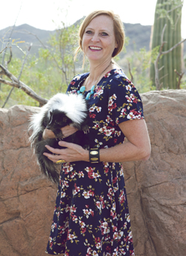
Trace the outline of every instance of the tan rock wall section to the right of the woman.
{"type": "Polygon", "coordinates": [[[137,256],[186,252],[186,90],[141,95],[151,157],[124,163],[137,256]]]}

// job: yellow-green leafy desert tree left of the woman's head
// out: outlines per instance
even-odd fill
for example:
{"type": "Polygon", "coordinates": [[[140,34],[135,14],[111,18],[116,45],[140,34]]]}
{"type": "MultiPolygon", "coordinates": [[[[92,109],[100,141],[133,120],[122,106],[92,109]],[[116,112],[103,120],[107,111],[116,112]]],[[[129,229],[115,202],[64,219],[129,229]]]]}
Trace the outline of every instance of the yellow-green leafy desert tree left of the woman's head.
{"type": "MultiPolygon", "coordinates": [[[[8,87],[6,90],[1,89],[0,98],[3,102],[1,107],[7,104],[10,96],[16,99],[16,104],[34,105],[34,101],[32,100],[34,99],[39,102],[39,105],[42,105],[47,102],[45,98],[50,98],[57,92],[65,92],[69,81],[76,73],[74,49],[77,47],[77,29],[78,25],[67,27],[62,23],[62,28],[57,29],[56,33],[51,36],[48,46],[45,46],[37,37],[42,48],[39,49],[39,57],[35,57],[34,61],[28,58],[26,63],[25,60],[28,57],[28,54],[26,54],[22,64],[20,60],[19,65],[17,65],[14,58],[11,63],[10,61],[5,61],[5,67],[3,65],[0,66],[0,83],[6,84],[6,87],[7,85],[12,86],[10,91],[8,91],[8,87]],[[14,65],[12,65],[12,63],[14,63],[14,65]],[[25,66],[24,72],[22,72],[23,66],[25,66]],[[21,72],[19,70],[21,70],[21,72]],[[2,75],[7,76],[10,81],[4,80],[2,75]],[[25,81],[25,83],[19,81],[21,75],[22,79],[24,77],[22,81],[25,81]],[[13,90],[15,87],[21,90],[13,90]],[[22,91],[27,93],[28,96],[31,96],[32,99],[30,102],[28,96],[26,96],[25,99],[20,97],[22,91]],[[42,98],[42,96],[44,97],[42,98]],[[19,99],[19,102],[17,102],[17,99],[19,99]]],[[[29,31],[25,31],[25,33],[31,34],[29,31]]],[[[33,34],[33,36],[36,35],[33,34]]]]}

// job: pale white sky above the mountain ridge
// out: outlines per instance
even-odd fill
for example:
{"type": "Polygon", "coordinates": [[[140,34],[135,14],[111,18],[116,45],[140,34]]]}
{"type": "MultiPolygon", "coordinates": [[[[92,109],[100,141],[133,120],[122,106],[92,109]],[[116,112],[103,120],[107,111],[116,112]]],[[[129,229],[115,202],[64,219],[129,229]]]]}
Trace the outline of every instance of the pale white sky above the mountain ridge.
{"type": "MultiPolygon", "coordinates": [[[[52,31],[71,25],[92,10],[113,10],[122,22],[153,25],[157,0],[9,0],[1,3],[0,30],[28,24],[52,31]]],[[[186,0],[182,8],[182,38],[186,38],[186,0]]]]}

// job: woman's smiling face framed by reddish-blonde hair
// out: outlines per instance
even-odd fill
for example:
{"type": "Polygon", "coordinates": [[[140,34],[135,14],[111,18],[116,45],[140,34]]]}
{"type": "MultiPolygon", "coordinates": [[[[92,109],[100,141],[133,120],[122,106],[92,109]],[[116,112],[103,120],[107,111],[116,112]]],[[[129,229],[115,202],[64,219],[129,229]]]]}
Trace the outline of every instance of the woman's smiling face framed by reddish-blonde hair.
{"type": "Polygon", "coordinates": [[[92,19],[82,40],[83,52],[89,61],[102,63],[111,60],[112,53],[117,47],[112,19],[106,15],[92,19]]]}

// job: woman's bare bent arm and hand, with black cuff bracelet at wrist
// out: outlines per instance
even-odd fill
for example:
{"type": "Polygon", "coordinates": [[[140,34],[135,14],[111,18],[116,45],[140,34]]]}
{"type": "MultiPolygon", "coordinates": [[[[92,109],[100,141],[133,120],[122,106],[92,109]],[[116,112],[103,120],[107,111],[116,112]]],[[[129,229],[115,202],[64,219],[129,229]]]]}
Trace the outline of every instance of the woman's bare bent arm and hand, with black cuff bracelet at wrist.
{"type": "MultiPolygon", "coordinates": [[[[126,162],[149,159],[151,150],[150,138],[144,119],[122,122],[119,127],[128,141],[109,149],[100,149],[100,161],[126,162]]],[[[74,162],[84,160],[89,162],[88,150],[73,143],[60,141],[59,144],[60,146],[67,147],[67,149],[53,149],[46,146],[52,153],[59,154],[53,155],[45,153],[52,161],[57,162],[57,160],[65,160],[66,162],[74,162]]]]}

